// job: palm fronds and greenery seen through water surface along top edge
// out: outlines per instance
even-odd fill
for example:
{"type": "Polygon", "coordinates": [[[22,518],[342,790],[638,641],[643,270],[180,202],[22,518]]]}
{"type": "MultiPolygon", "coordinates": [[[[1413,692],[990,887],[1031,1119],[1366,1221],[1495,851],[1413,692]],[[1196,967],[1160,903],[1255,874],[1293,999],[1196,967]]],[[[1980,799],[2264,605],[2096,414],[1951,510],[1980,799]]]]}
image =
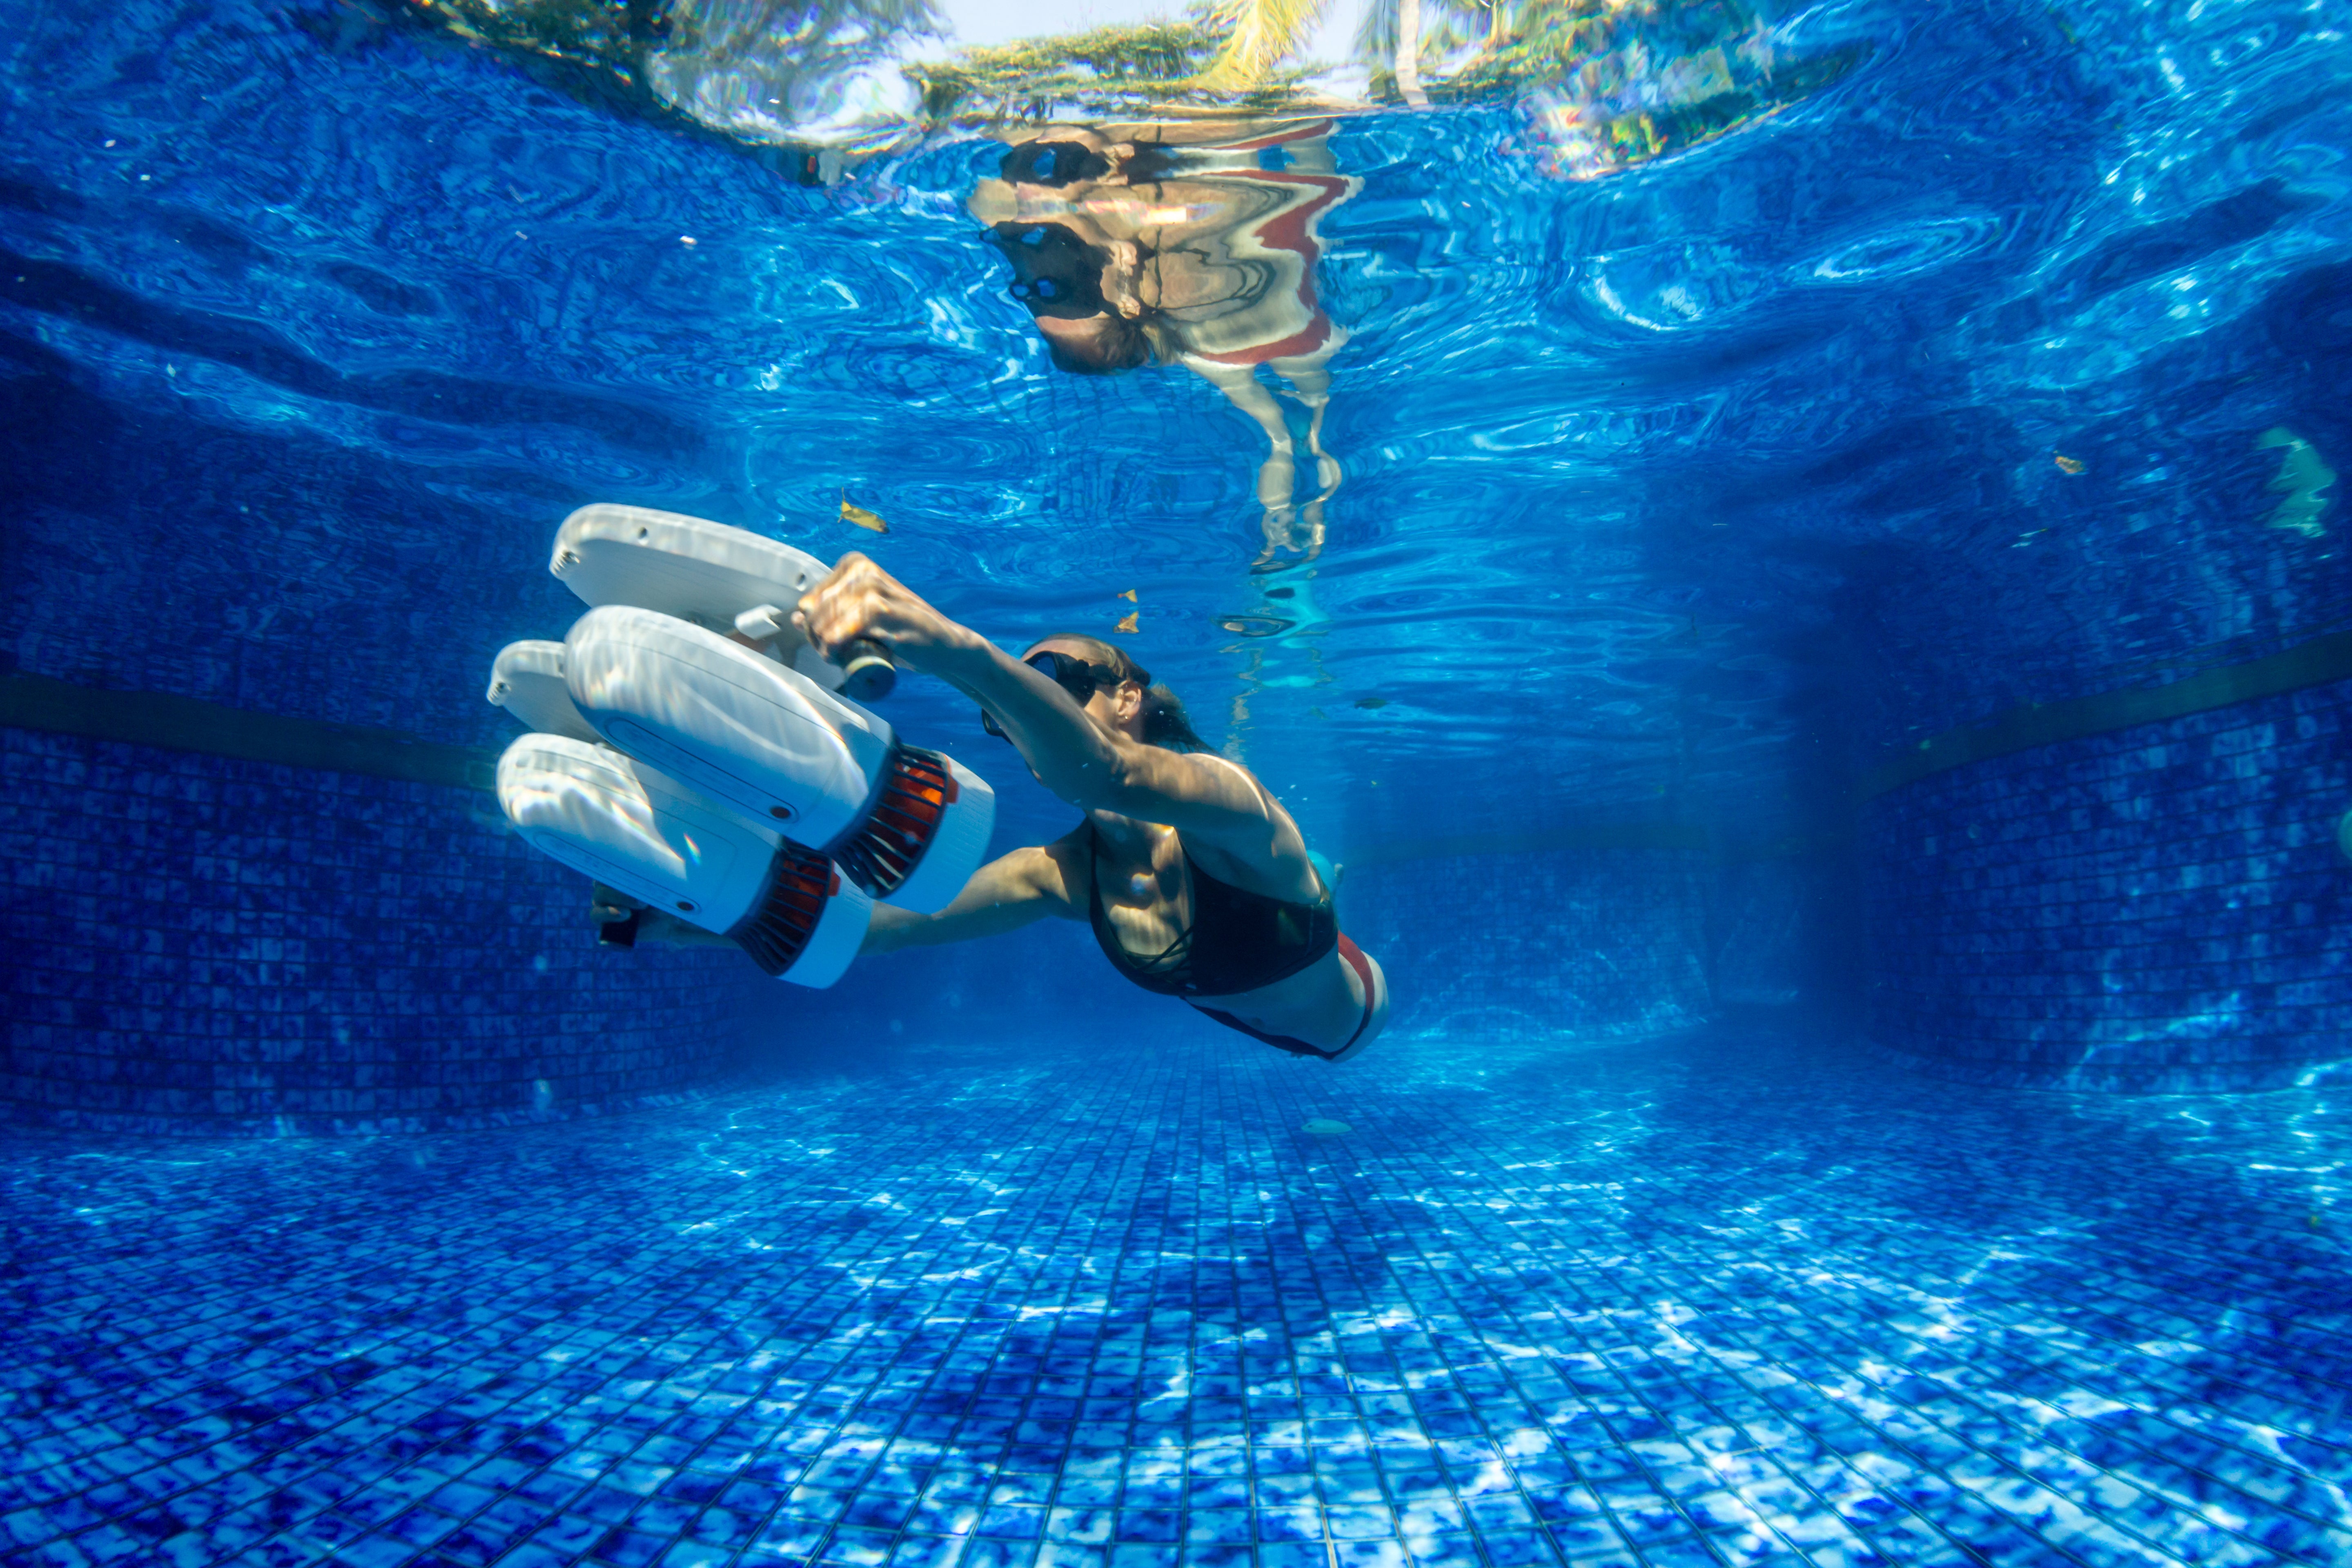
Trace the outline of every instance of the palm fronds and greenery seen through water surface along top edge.
{"type": "MultiPolygon", "coordinates": [[[[1164,0],[1167,19],[908,49],[941,38],[943,0],[376,0],[412,26],[492,45],[550,87],[623,113],[774,141],[840,120],[875,89],[875,122],[1127,118],[1185,103],[1296,103],[1298,52],[1329,0],[1164,0]],[[887,101],[884,101],[887,99],[887,101]]],[[[1352,59],[1406,103],[1541,92],[1562,167],[1592,174],[1717,136],[1846,75],[1858,49],[1792,54],[1769,0],[1362,0],[1352,59]],[[1406,45],[1406,38],[1411,42],[1406,45]],[[1430,78],[1423,82],[1421,73],[1430,78]]],[[[856,108],[866,113],[866,108],[856,108]]],[[[854,118],[854,115],[851,115],[854,118]]]]}

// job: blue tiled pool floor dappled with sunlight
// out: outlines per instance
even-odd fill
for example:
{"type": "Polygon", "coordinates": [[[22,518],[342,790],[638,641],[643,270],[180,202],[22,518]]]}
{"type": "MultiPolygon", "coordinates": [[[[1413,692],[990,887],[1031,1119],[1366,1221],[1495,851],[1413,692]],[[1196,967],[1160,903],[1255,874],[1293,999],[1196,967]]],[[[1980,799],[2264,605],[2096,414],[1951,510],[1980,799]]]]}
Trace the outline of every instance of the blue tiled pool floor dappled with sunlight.
{"type": "Polygon", "coordinates": [[[2352,1561],[2326,1088],[1959,1088],[1764,1030],[1105,1056],[12,1135],[0,1552],[2352,1561]]]}

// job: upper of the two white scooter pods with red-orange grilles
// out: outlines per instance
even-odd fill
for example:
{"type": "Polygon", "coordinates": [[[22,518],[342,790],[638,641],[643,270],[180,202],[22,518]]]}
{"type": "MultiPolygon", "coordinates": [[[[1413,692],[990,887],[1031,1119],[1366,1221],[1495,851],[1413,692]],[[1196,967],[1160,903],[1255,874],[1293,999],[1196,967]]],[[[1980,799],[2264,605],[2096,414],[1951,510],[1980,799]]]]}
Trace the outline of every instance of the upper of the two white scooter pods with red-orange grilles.
{"type": "Polygon", "coordinates": [[[978,870],[995,792],[856,703],[739,642],[607,604],[564,639],[564,684],[612,745],[931,914],[978,870]]]}

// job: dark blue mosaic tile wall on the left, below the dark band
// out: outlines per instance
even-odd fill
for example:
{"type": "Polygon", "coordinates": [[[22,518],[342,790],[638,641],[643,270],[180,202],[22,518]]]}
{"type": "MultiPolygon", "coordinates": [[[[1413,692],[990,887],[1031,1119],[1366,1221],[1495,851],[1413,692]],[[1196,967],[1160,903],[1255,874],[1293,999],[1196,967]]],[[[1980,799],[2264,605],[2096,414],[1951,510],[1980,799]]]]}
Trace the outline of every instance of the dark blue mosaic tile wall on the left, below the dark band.
{"type": "Polygon", "coordinates": [[[0,729],[0,1103],[125,1131],[557,1117],[710,1077],[757,971],[607,952],[485,795],[0,729]]]}

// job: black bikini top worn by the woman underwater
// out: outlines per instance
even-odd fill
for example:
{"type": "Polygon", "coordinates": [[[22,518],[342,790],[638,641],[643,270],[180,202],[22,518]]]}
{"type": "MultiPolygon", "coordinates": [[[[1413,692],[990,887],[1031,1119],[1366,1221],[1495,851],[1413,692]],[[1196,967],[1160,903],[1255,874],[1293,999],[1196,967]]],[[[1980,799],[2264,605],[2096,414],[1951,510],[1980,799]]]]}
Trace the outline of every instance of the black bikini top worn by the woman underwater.
{"type": "Polygon", "coordinates": [[[1200,870],[1183,858],[1192,879],[1192,924],[1162,952],[1141,959],[1120,945],[1120,929],[1103,910],[1103,882],[1096,875],[1101,837],[1087,825],[1087,919],[1103,957],[1122,976],[1162,997],[1237,997],[1275,980],[1289,980],[1301,969],[1319,964],[1338,947],[1338,912],[1331,889],[1315,903],[1291,903],[1247,893],[1200,870]]]}

